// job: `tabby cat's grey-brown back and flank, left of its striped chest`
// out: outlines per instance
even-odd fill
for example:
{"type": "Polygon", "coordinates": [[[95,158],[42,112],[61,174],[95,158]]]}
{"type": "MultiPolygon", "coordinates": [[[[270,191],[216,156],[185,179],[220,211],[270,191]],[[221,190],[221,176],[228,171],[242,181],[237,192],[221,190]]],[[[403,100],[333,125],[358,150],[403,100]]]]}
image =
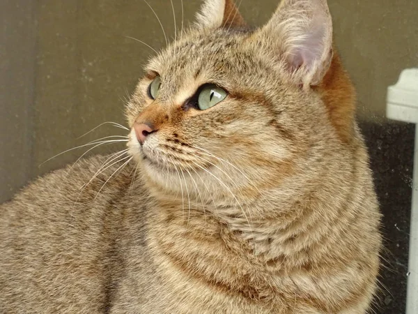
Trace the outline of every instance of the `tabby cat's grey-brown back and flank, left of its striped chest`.
{"type": "Polygon", "coordinates": [[[1,313],[103,313],[130,252],[148,258],[146,190],[130,165],[91,180],[105,160],[56,170],[0,206],[1,313]]]}

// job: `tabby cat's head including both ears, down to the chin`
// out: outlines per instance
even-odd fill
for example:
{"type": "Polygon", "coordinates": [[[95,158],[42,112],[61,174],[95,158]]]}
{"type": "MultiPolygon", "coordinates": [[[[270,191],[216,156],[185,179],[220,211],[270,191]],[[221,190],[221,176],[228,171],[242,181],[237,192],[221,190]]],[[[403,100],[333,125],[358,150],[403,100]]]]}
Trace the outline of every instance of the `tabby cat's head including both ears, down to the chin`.
{"type": "Polygon", "coordinates": [[[353,137],[353,97],[325,0],[283,0],[259,29],[231,0],[206,0],[146,66],[127,105],[130,154],[164,193],[250,203],[320,174],[353,137]]]}

